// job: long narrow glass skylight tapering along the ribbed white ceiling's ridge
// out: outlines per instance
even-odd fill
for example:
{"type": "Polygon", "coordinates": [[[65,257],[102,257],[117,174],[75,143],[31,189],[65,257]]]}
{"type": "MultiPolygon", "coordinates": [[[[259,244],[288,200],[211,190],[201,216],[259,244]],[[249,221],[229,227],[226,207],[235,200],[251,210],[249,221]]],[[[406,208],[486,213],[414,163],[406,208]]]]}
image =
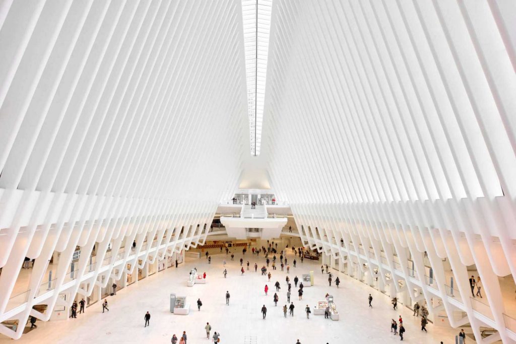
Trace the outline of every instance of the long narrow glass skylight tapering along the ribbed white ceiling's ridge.
{"type": "Polygon", "coordinates": [[[260,155],[272,0],[242,0],[251,155],[260,155]]]}

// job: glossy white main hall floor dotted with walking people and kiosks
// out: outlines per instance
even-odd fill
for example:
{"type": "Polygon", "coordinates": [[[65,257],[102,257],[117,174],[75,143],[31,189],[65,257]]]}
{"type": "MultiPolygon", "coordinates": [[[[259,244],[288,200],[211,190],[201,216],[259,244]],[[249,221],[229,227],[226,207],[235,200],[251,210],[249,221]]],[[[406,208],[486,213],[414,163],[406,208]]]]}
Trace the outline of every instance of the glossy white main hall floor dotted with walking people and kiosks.
{"type": "MultiPolygon", "coordinates": [[[[188,343],[208,342],[204,333],[206,322],[212,324],[213,331],[220,332],[221,342],[244,344],[246,336],[255,336],[258,344],[282,343],[294,344],[299,338],[302,344],[307,343],[382,343],[399,341],[399,336],[390,332],[391,318],[399,315],[404,318],[407,332],[406,342],[411,343],[444,343],[454,342],[454,329],[427,325],[428,333],[421,332],[420,319],[412,316],[412,312],[400,306],[393,310],[388,297],[377,292],[350,277],[337,273],[342,281],[340,288],[329,287],[327,275],[321,275],[319,262],[305,260],[298,263],[297,268],[291,265],[291,280],[313,270],[315,286],[305,288],[303,300],[297,297],[297,288],[292,290],[295,316],[283,317],[281,306],[286,303],[286,271],[278,268],[272,271],[271,282],[266,276],[261,276],[260,270],[255,273],[252,269],[256,261],[259,266],[265,263],[265,258],[253,256],[250,253],[244,257],[244,264],[249,259],[251,271],[240,275],[239,259],[241,253],[236,253],[235,261],[229,261],[229,256],[214,255],[212,264],[208,265],[205,258],[189,259],[178,269],[167,269],[156,273],[137,285],[131,285],[109,297],[109,312],[102,313],[100,303],[86,309],[86,314],[77,315],[77,319],[64,321],[41,322],[38,328],[22,336],[21,343],[169,343],[172,334],[179,335],[186,331],[188,343]],[[222,275],[222,259],[228,260],[228,278],[222,275]],[[199,272],[207,274],[207,284],[186,286],[190,268],[197,267],[199,272]],[[275,307],[272,301],[276,281],[281,284],[280,301],[275,307]],[[265,296],[264,286],[270,287],[269,295],[265,296]],[[225,305],[225,291],[231,293],[231,303],[225,305]],[[169,294],[175,292],[178,296],[186,296],[191,305],[187,316],[173,315],[169,312],[169,294]],[[334,295],[335,303],[340,311],[340,321],[331,321],[324,316],[311,315],[307,319],[303,309],[309,304],[313,306],[323,300],[326,292],[334,295]],[[373,308],[367,306],[368,293],[374,297],[373,308]],[[196,300],[200,298],[203,306],[197,311],[196,300]],[[262,320],[260,313],[265,304],[267,319],[262,320]],[[144,314],[151,313],[149,327],[144,327],[144,314]]],[[[288,255],[292,262],[293,255],[288,255]]],[[[299,260],[299,259],[298,259],[299,260]]],[[[333,271],[336,273],[336,271],[333,271]]],[[[12,342],[2,337],[0,343],[12,342]]]]}

